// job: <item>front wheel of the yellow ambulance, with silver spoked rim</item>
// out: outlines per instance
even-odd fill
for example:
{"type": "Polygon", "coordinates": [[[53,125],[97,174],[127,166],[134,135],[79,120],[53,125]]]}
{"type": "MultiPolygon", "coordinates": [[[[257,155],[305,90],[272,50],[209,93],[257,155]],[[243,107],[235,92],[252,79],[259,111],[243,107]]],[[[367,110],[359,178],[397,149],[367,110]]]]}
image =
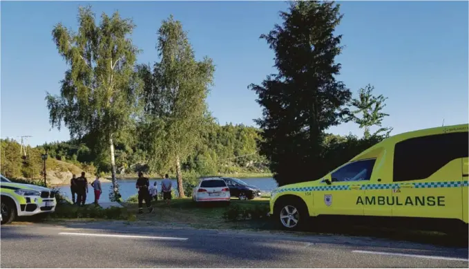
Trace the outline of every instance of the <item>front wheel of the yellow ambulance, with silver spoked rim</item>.
{"type": "Polygon", "coordinates": [[[294,197],[278,201],[274,207],[274,217],[280,229],[289,231],[303,230],[309,220],[305,203],[294,197]]]}

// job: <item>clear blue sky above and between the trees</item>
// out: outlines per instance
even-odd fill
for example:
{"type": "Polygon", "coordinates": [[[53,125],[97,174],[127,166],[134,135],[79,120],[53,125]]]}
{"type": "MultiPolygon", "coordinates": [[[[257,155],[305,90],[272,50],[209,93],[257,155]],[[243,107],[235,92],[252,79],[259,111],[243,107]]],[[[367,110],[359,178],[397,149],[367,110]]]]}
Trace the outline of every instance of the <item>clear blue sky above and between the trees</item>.
{"type": "MultiPolygon", "coordinates": [[[[77,28],[77,7],[111,14],[119,10],[137,24],[133,41],[139,62],[157,60],[156,32],[173,14],[182,21],[197,57],[216,64],[209,109],[221,124],[252,125],[260,116],[247,86],[274,72],[274,53],[258,39],[279,22],[276,2],[23,2],[1,1],[1,137],[30,135],[31,145],[68,140],[67,129],[48,122],[46,91],[59,93],[66,64],[52,42],[58,22],[77,28]]],[[[393,133],[468,122],[468,2],[342,2],[345,14],[341,75],[356,93],[370,83],[389,99],[383,123],[393,133]]],[[[355,124],[332,132],[361,135],[355,124]]]]}

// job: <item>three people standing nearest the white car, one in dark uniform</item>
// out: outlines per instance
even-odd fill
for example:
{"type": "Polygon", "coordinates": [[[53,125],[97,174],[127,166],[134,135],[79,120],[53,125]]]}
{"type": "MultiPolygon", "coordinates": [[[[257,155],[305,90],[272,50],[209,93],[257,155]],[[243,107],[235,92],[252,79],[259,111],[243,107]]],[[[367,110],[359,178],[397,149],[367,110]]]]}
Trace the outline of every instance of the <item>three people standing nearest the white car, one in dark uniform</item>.
{"type": "MultiPolygon", "coordinates": [[[[142,172],[138,173],[137,183],[135,187],[138,189],[138,212],[143,213],[143,201],[145,201],[146,208],[149,212],[153,212],[153,207],[151,206],[151,200],[158,200],[158,191],[156,187],[156,181],[153,183],[153,186],[150,185],[149,178],[143,176],[142,172]]],[[[161,192],[163,193],[163,200],[166,201],[166,205],[169,205],[171,201],[171,188],[173,183],[169,179],[168,174],[164,175],[164,179],[161,183],[161,192]]]]}

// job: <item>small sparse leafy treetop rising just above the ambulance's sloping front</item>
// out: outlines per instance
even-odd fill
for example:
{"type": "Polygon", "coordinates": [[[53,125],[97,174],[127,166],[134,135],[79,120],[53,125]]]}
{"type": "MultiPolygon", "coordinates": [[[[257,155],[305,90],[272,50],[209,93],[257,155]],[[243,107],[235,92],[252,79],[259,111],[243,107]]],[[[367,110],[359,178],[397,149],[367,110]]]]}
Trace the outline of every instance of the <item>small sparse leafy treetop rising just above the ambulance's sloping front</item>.
{"type": "Polygon", "coordinates": [[[372,136],[389,136],[392,128],[381,127],[383,119],[389,114],[383,113],[386,106],[384,103],[387,98],[382,94],[378,96],[373,95],[374,86],[367,84],[364,88],[358,91],[358,98],[353,98],[350,104],[354,106],[354,111],[350,115],[350,120],[356,122],[360,128],[365,129],[363,136],[370,138],[372,136]],[[361,118],[359,115],[361,114],[361,118]],[[380,127],[376,132],[370,133],[370,127],[380,127]],[[383,134],[384,133],[384,134],[383,134]]]}

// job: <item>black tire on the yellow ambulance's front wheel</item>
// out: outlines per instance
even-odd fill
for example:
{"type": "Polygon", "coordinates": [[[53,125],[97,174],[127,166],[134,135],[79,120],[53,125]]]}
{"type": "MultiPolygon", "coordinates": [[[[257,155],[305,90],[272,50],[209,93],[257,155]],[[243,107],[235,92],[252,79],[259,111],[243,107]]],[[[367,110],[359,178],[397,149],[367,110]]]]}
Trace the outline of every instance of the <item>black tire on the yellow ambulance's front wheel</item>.
{"type": "Polygon", "coordinates": [[[280,229],[288,231],[304,230],[307,227],[307,223],[309,221],[307,206],[305,202],[303,202],[303,200],[301,200],[301,198],[298,196],[285,196],[279,198],[279,201],[277,201],[276,205],[274,206],[274,218],[276,218],[276,222],[278,223],[280,229]],[[288,227],[285,225],[285,222],[288,223],[288,221],[285,221],[285,219],[282,221],[280,214],[285,216],[285,214],[288,214],[287,211],[292,213],[295,210],[297,213],[292,214],[292,218],[295,219],[297,223],[296,225],[290,224],[288,227]]]}

